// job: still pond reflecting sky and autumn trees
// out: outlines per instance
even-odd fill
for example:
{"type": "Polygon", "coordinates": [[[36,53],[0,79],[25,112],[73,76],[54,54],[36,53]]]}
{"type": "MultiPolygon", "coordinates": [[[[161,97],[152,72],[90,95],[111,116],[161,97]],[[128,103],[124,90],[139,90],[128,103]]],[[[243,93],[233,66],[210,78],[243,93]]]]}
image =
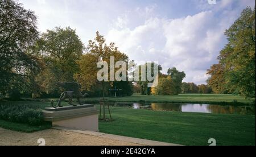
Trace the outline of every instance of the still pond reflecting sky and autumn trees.
{"type": "Polygon", "coordinates": [[[161,111],[180,111],[195,113],[214,113],[214,114],[250,114],[255,115],[253,106],[227,106],[210,104],[175,104],[175,103],[123,103],[116,102],[112,106],[123,106],[133,109],[148,109],[161,111]]]}

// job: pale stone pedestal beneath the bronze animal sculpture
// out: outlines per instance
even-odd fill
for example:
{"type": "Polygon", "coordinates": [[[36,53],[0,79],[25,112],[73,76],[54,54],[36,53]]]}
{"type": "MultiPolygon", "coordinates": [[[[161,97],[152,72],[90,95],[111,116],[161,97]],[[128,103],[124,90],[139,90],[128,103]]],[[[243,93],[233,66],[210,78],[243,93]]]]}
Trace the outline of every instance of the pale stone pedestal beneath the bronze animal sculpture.
{"type": "Polygon", "coordinates": [[[94,105],[46,108],[43,117],[52,122],[52,126],[98,131],[98,111],[94,105]]]}

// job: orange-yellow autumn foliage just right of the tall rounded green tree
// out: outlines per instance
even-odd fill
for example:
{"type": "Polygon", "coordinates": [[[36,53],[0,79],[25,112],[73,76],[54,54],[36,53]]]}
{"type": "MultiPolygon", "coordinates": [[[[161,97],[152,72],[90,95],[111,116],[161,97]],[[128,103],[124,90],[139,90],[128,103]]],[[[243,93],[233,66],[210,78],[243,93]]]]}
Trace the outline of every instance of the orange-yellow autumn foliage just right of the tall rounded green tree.
{"type": "MultiPolygon", "coordinates": [[[[104,36],[100,35],[99,32],[96,32],[96,38],[94,40],[89,40],[89,44],[86,47],[86,53],[82,55],[77,61],[77,64],[79,65],[79,71],[75,73],[74,78],[82,85],[82,89],[88,90],[89,93],[95,93],[95,90],[98,90],[95,88],[95,86],[99,87],[100,84],[102,86],[101,89],[104,89],[103,93],[108,93],[106,87],[110,88],[111,82],[106,80],[99,82],[97,80],[97,72],[99,70],[97,68],[97,63],[98,61],[106,61],[108,65],[110,65],[110,56],[115,57],[115,60],[118,61],[122,60],[126,63],[129,61],[128,56],[126,56],[125,53],[119,51],[118,48],[115,47],[114,43],[110,43],[109,45],[106,44],[104,36]]],[[[118,69],[119,68],[115,68],[115,71],[118,69]]],[[[125,82],[125,84],[128,85],[129,83],[125,82]]],[[[132,91],[132,86],[127,85],[123,87],[123,92],[127,90],[127,93],[125,94],[129,95],[129,91],[132,91]]]]}

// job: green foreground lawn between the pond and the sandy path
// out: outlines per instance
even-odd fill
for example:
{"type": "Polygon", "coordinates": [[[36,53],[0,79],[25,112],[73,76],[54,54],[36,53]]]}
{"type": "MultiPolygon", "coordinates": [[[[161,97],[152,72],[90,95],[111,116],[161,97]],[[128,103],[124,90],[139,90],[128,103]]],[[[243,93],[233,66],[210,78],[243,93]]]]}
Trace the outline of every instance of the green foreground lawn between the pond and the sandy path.
{"type": "Polygon", "coordinates": [[[103,133],[184,145],[255,145],[255,115],[203,114],[112,107],[103,133]]]}

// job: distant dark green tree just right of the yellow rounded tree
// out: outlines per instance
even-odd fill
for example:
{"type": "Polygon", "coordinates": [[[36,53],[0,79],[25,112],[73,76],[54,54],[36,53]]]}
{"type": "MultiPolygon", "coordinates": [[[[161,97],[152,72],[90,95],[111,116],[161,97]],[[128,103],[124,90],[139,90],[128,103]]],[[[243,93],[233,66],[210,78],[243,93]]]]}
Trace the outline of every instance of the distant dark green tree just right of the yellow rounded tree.
{"type": "Polygon", "coordinates": [[[186,77],[185,73],[177,71],[177,69],[174,67],[174,68],[168,69],[167,74],[171,76],[172,80],[174,81],[174,84],[175,84],[174,89],[176,90],[176,92],[174,93],[177,93],[177,94],[181,93],[182,81],[186,77]]]}

